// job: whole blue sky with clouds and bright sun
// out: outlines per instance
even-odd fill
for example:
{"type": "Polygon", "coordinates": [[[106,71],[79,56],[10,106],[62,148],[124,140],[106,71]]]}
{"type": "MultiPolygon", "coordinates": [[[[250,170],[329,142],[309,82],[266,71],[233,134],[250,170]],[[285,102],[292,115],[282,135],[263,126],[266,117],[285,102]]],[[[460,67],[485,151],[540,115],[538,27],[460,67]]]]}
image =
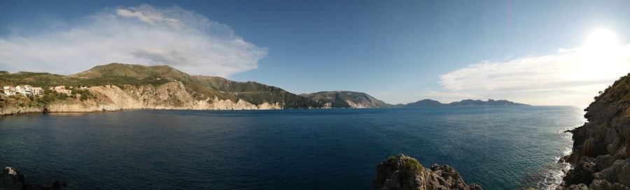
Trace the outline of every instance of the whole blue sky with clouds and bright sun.
{"type": "Polygon", "coordinates": [[[587,105],[630,73],[630,1],[0,1],[0,70],[168,64],[295,94],[587,105]]]}

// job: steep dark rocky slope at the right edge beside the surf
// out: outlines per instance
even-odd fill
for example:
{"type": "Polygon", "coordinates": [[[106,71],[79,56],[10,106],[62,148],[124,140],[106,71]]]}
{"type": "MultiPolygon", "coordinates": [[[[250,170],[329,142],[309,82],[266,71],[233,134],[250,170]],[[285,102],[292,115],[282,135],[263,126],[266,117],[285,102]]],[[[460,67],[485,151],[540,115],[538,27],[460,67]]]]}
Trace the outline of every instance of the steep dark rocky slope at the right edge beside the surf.
{"type": "Polygon", "coordinates": [[[559,189],[630,189],[630,75],[595,97],[588,122],[571,130],[573,163],[559,189]]]}

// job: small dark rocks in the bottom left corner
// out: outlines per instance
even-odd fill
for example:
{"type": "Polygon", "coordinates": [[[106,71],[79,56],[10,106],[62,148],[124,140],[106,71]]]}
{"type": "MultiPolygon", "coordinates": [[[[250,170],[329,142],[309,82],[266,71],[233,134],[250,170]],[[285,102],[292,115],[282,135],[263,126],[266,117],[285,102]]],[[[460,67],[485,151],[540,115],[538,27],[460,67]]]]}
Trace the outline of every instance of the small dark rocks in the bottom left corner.
{"type": "Polygon", "coordinates": [[[50,186],[34,185],[25,182],[24,175],[11,167],[6,167],[0,173],[1,190],[59,190],[64,189],[66,183],[55,181],[50,186]]]}

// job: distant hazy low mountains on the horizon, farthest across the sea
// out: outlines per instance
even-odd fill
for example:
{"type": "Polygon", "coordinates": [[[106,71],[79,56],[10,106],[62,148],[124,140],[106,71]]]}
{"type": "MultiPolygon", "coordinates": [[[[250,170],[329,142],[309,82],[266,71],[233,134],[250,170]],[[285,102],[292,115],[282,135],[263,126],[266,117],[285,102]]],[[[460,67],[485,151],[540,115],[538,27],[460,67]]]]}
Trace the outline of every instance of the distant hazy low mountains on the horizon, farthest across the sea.
{"type": "Polygon", "coordinates": [[[440,103],[439,101],[434,101],[431,99],[423,99],[421,101],[416,101],[414,103],[407,103],[405,105],[402,105],[402,107],[444,107],[444,106],[464,107],[464,106],[513,106],[513,105],[527,105],[527,104],[514,103],[512,101],[506,101],[506,100],[495,101],[493,99],[489,99],[488,101],[466,99],[463,101],[455,101],[451,103],[440,103]]]}

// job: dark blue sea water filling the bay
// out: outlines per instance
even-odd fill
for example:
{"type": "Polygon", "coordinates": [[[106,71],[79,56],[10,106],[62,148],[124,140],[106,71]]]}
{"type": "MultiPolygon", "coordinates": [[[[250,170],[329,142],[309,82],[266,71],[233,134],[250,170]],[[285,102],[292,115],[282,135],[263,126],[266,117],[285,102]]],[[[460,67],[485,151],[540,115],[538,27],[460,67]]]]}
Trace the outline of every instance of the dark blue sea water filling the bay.
{"type": "Polygon", "coordinates": [[[0,117],[0,166],[70,189],[370,189],[393,154],[485,189],[545,189],[577,107],[173,111],[0,117]]]}

